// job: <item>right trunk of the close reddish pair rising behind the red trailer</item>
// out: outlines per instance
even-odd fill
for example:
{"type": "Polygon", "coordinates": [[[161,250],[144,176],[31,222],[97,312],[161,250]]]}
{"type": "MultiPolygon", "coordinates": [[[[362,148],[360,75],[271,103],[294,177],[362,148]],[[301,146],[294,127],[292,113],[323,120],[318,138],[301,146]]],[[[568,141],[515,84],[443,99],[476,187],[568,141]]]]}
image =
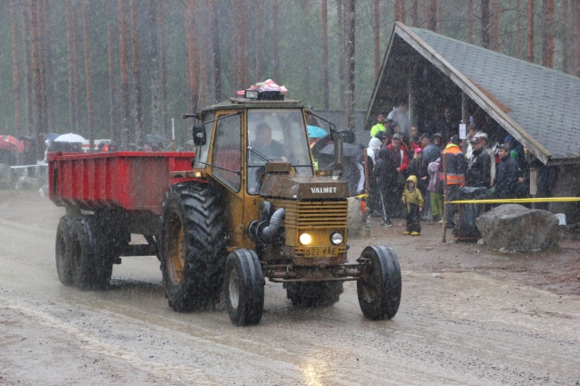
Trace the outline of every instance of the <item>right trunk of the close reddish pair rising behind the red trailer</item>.
{"type": "Polygon", "coordinates": [[[141,70],[139,68],[139,33],[137,22],[137,0],[128,0],[131,21],[131,67],[133,69],[133,98],[135,103],[135,140],[137,148],[143,147],[143,106],[141,95],[141,70]]]}

